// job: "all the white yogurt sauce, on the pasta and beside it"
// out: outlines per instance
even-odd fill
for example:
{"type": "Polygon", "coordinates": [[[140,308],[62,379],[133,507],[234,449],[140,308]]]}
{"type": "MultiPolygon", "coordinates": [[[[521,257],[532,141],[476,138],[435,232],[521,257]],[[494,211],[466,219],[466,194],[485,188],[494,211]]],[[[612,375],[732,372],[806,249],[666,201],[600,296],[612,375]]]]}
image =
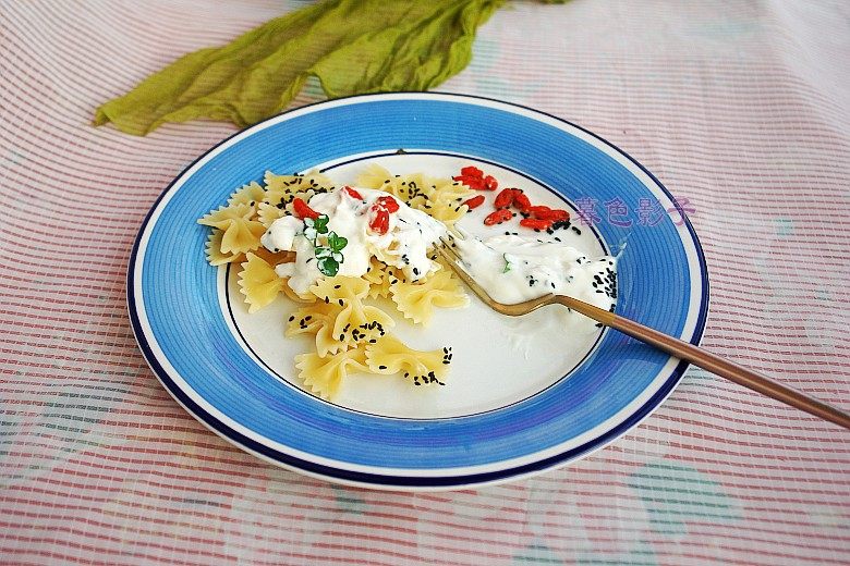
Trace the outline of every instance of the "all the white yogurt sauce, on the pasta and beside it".
{"type": "MultiPolygon", "coordinates": [[[[309,199],[313,210],[327,214],[328,231],[348,239],[342,249],[339,275],[364,275],[372,256],[399,268],[408,281],[418,281],[440,269],[439,263],[428,257],[428,249],[447,234],[442,223],[394,199],[399,210],[389,214],[387,232],[378,234],[369,229],[372,207],[379,197],[391,195],[360,187],[355,190],[363,199],[351,196],[344,189],[318,194],[309,199]]],[[[615,257],[587,258],[572,246],[535,236],[538,234],[530,232],[527,237],[506,234],[482,239],[466,234],[456,242],[466,270],[500,303],[521,303],[548,293],[559,293],[605,310],[614,307],[617,302],[615,257]]],[[[295,261],[276,268],[278,275],[289,278],[289,286],[295,293],[306,294],[321,279],[314,246],[304,236],[302,220],[292,216],[277,219],[260,241],[271,251],[295,253],[295,261]]],[[[559,310],[564,313],[564,320],[575,317],[567,309],[559,310]]],[[[593,322],[580,318],[587,323],[593,322]]],[[[593,324],[580,325],[594,329],[593,324]]]]}

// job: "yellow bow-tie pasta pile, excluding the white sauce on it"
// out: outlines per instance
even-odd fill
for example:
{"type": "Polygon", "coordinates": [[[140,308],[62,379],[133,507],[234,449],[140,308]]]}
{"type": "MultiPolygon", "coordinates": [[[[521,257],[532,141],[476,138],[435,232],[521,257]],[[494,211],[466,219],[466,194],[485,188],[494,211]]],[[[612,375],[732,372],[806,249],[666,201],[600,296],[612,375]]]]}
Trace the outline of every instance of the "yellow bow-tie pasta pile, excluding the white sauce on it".
{"type": "MultiPolygon", "coordinates": [[[[375,164],[363,172],[357,185],[385,190],[447,226],[466,213],[463,202],[473,194],[450,179],[392,175],[375,164]]],[[[212,229],[206,244],[207,260],[212,266],[230,263],[239,270],[239,287],[248,312],[271,304],[281,294],[300,304],[287,321],[286,335],[314,339],[313,352],[295,356],[299,378],[312,393],[332,399],[351,372],[400,373],[415,385],[445,384],[451,347],[423,352],[406,346],[390,332],[392,317],[374,303],[379,297],[391,299],[404,318],[427,324],[435,308],[462,307],[469,300],[448,267],[441,266],[413,283],[405,281],[400,270],[373,257],[362,278],[325,276],[306,295],[296,295],[287,279],[276,273],[275,267],[292,261],[294,255],[265,249],[260,236],[275,220],[293,213],[295,198],[308,201],[318,193],[333,189],[333,182],[318,172],[276,175],[267,171],[263,184],[252,182],[239,188],[226,206],[198,220],[212,229]]],[[[436,254],[432,259],[439,261],[436,254]]]]}

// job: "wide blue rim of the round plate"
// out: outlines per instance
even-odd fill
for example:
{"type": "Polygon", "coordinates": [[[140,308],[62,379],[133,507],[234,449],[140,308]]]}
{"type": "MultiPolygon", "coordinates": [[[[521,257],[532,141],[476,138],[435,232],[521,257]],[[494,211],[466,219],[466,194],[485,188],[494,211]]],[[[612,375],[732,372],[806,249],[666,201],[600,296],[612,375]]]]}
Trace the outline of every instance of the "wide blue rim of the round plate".
{"type": "MultiPolygon", "coordinates": [[[[570,379],[457,419],[350,411],[282,384],[256,364],[223,322],[217,270],[204,259],[207,232],[196,219],[267,169],[304,171],[399,148],[497,162],[573,200],[585,192],[600,204],[655,199],[663,210],[678,210],[680,225],[664,216],[654,226],[630,229],[617,311],[699,344],[708,310],[702,247],[672,195],[636,160],[581,126],[520,104],[441,93],[362,95],[291,110],[222,140],[174,179],[143,221],[127,271],[131,323],[154,373],[190,414],[246,452],[308,476],[415,490],[469,488],[563,465],[660,405],[688,364],[616,332],[605,333],[570,379]],[[641,255],[652,262],[641,263],[641,255]]],[[[597,227],[609,245],[628,234],[597,227]]]]}

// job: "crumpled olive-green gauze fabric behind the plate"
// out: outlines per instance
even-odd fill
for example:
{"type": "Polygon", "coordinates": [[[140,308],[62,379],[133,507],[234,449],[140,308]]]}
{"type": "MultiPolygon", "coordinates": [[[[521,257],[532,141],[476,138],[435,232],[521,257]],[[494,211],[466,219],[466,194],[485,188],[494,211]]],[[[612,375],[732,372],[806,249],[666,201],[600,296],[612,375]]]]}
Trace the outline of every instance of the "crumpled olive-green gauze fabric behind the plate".
{"type": "Polygon", "coordinates": [[[425,90],[466,66],[475,30],[502,3],[320,2],[178,59],[98,108],[95,124],[135,135],[198,118],[244,127],[287,108],[311,75],[329,98],[425,90]]]}

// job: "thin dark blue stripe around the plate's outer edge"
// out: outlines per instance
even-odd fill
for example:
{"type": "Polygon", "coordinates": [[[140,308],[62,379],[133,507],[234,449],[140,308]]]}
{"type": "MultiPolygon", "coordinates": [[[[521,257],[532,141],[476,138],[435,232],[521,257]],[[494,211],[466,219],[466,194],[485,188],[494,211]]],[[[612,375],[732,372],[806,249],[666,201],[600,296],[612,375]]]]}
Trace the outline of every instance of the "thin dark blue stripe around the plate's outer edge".
{"type": "MultiPolygon", "coordinates": [[[[418,93],[418,91],[401,91],[397,94],[409,94],[409,95],[416,95],[416,96],[432,96],[434,95],[435,98],[439,98],[440,96],[448,96],[453,98],[467,98],[470,100],[487,100],[490,102],[495,102],[497,104],[503,104],[509,107],[515,107],[521,108],[523,110],[530,111],[532,113],[542,114],[545,116],[548,116],[552,120],[556,120],[558,122],[568,124],[572,127],[575,127],[576,130],[580,130],[581,132],[584,132],[585,134],[598,139],[603,144],[611,147],[620,155],[624,156],[629,161],[634,163],[641,171],[643,171],[649,179],[653,180],[653,182],[673,201],[676,202],[672,194],[665,187],[658,179],[654,174],[652,174],[645,167],[643,167],[639,161],[636,161],[634,158],[632,158],[629,153],[617,147],[616,145],[611,144],[610,142],[606,140],[605,138],[594,134],[593,132],[574,124],[568,120],[563,120],[561,118],[558,118],[554,114],[543,112],[523,104],[518,104],[514,102],[506,102],[503,100],[498,100],[495,98],[487,98],[487,97],[481,97],[481,96],[473,96],[473,95],[463,95],[463,94],[453,94],[453,93],[418,93]]],[[[384,95],[387,96],[387,95],[384,95]]],[[[365,98],[365,97],[376,97],[375,94],[369,95],[355,95],[351,97],[342,97],[333,99],[333,101],[338,100],[349,100],[349,99],[357,99],[357,98],[365,98]]],[[[392,97],[392,94],[388,96],[392,97]]],[[[127,274],[126,274],[126,299],[127,299],[127,310],[130,313],[130,321],[133,330],[133,335],[136,339],[136,343],[139,346],[139,349],[142,350],[142,354],[145,357],[145,360],[147,361],[150,369],[154,371],[154,374],[157,377],[157,379],[162,383],[162,385],[166,387],[166,390],[181,404],[183,407],[189,410],[196,419],[204,422],[207,427],[209,427],[211,430],[214,430],[217,434],[224,438],[226,440],[229,440],[230,442],[233,442],[234,444],[242,446],[248,451],[255,452],[257,454],[263,455],[266,458],[272,459],[275,462],[279,462],[283,465],[294,467],[302,469],[304,471],[315,473],[318,476],[324,476],[329,479],[339,479],[343,481],[350,481],[355,483],[364,483],[364,484],[374,484],[374,485],[387,485],[387,487],[399,487],[399,488],[440,488],[440,487],[462,487],[467,484],[476,484],[476,483],[487,483],[487,482],[495,482],[498,480],[505,480],[514,476],[522,476],[527,473],[533,473],[536,471],[543,471],[552,467],[558,466],[561,463],[568,462],[570,459],[574,459],[582,454],[585,454],[587,452],[592,452],[596,448],[602,447],[605,445],[608,441],[614,440],[622,434],[624,434],[629,429],[640,423],[644,418],[646,418],[655,408],[657,408],[658,405],[669,395],[675,386],[678,384],[678,382],[681,380],[681,377],[684,374],[684,371],[688,369],[689,364],[687,361],[681,361],[672,371],[670,377],[667,379],[667,381],[661,385],[661,387],[646,402],[644,403],[638,410],[635,410],[629,418],[627,418],[623,422],[618,424],[617,427],[612,428],[611,430],[600,434],[599,436],[592,439],[581,446],[578,446],[575,448],[562,452],[560,454],[556,454],[554,456],[549,456],[547,458],[533,462],[526,465],[517,466],[513,468],[506,468],[501,470],[496,470],[491,472],[482,472],[482,473],[471,473],[471,475],[464,475],[464,476],[444,476],[444,477],[404,477],[404,476],[385,476],[379,473],[368,473],[368,472],[360,472],[360,471],[349,471],[343,470],[339,468],[333,468],[329,466],[324,466],[320,464],[315,464],[308,460],[304,460],[302,458],[292,456],[290,454],[276,451],[274,448],[270,448],[268,446],[265,446],[244,434],[232,430],[227,424],[218,420],[212,415],[208,414],[206,410],[204,410],[199,405],[197,405],[194,401],[192,401],[178,385],[174,383],[173,380],[168,376],[168,372],[162,368],[162,366],[159,364],[159,361],[156,359],[156,356],[154,355],[147,340],[144,336],[144,331],[142,330],[142,324],[138,318],[138,312],[136,310],[135,306],[135,292],[134,292],[134,279],[135,279],[135,271],[136,271],[136,259],[138,256],[138,248],[142,243],[142,236],[147,229],[148,223],[150,222],[151,217],[154,216],[154,212],[156,211],[157,207],[161,202],[161,200],[166,197],[166,195],[169,194],[173,185],[180,180],[190,169],[192,169],[198,161],[207,157],[210,152],[215,151],[219,146],[230,142],[232,138],[242,135],[246,131],[255,127],[258,124],[263,124],[265,122],[268,122],[270,120],[276,120],[281,115],[289,114],[295,111],[303,110],[305,108],[323,104],[325,102],[328,102],[327,100],[321,100],[317,102],[313,102],[309,104],[305,104],[295,109],[287,110],[284,112],[281,112],[279,114],[276,114],[274,116],[270,116],[262,122],[258,122],[257,124],[254,124],[252,126],[248,126],[247,128],[241,130],[239,132],[233,133],[232,135],[226,137],[221,142],[215,144],[209,149],[207,149],[204,153],[198,156],[195,160],[193,160],[189,165],[186,165],[172,181],[168,184],[168,186],[162,190],[162,193],[157,197],[157,199],[154,201],[154,204],[150,206],[150,209],[148,210],[148,213],[145,216],[145,219],[142,221],[142,224],[138,230],[138,234],[136,235],[136,239],[133,243],[133,248],[130,255],[130,261],[127,264],[127,274]]],[[[703,253],[702,245],[696,237],[696,232],[693,229],[693,225],[691,224],[690,219],[683,213],[683,211],[680,209],[680,212],[682,212],[681,218],[684,219],[684,224],[688,227],[688,232],[691,235],[692,243],[694,245],[694,248],[696,250],[696,256],[700,262],[700,278],[702,280],[703,285],[703,294],[702,299],[700,304],[700,312],[697,316],[696,324],[694,328],[694,334],[691,339],[691,343],[694,345],[699,345],[700,341],[702,340],[703,333],[705,331],[705,321],[708,313],[708,303],[709,303],[709,290],[708,290],[708,270],[705,261],[705,254],[703,253]]]]}

